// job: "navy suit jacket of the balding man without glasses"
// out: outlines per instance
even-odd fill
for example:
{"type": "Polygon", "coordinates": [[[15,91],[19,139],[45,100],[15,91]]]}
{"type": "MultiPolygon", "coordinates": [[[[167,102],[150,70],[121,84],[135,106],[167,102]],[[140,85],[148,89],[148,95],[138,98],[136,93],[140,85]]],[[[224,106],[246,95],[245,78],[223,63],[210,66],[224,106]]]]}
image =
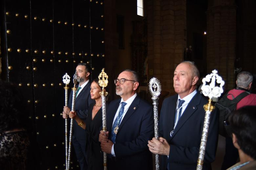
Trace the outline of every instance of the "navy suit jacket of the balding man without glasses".
{"type": "MultiPolygon", "coordinates": [[[[178,94],[164,99],[160,113],[159,133],[170,144],[169,158],[161,156],[160,169],[169,170],[196,169],[201,143],[205,111],[203,105],[207,100],[197,92],[181,115],[173,136],[174,118],[178,94]]],[[[203,169],[211,169],[215,160],[218,143],[219,110],[211,112],[208,138],[206,143],[203,169]]]]}

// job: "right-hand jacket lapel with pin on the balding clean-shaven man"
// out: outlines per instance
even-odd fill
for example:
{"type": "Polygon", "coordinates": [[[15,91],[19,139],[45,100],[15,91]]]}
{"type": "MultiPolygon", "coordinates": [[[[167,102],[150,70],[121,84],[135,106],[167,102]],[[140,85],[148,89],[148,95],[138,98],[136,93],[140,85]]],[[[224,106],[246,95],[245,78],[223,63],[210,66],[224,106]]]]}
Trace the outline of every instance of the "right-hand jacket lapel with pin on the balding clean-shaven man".
{"type": "Polygon", "coordinates": [[[184,110],[184,112],[182,113],[171,138],[173,138],[176,135],[176,133],[183,126],[183,124],[187,121],[187,119],[197,110],[197,105],[200,104],[201,97],[202,97],[201,94],[199,92],[197,92],[195,94],[195,96],[190,100],[189,104],[186,107],[186,110],[184,110]]]}

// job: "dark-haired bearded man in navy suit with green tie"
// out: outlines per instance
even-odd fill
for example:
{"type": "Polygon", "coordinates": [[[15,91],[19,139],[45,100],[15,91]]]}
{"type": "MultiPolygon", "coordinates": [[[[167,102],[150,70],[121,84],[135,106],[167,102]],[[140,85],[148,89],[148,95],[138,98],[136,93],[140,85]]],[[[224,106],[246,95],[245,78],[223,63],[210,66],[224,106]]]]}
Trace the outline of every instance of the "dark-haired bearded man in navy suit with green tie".
{"type": "MultiPolygon", "coordinates": [[[[89,76],[91,73],[90,65],[86,63],[79,63],[76,67],[77,74],[77,82],[79,85],[76,85],[76,98],[75,98],[75,111],[77,116],[82,119],[82,122],[86,122],[88,108],[91,103],[94,101],[91,99],[90,95],[90,87],[91,81],[89,80],[89,76]]],[[[71,91],[69,96],[69,104],[68,106],[64,106],[63,108],[63,118],[68,118],[69,112],[72,107],[72,95],[73,91],[71,91]]],[[[76,158],[80,164],[81,170],[87,170],[86,163],[86,132],[84,129],[79,127],[79,124],[75,123],[73,129],[73,137],[72,143],[75,148],[76,158]]],[[[81,126],[81,125],[80,125],[81,126]]]]}

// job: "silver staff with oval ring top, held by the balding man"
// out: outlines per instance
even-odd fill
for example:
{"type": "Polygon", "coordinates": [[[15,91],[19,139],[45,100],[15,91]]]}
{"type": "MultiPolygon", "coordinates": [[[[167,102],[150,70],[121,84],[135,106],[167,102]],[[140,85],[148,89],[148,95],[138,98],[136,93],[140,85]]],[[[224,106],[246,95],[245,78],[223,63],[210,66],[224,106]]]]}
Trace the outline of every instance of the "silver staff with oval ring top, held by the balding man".
{"type": "MultiPolygon", "coordinates": [[[[154,106],[154,128],[155,128],[155,138],[159,139],[159,130],[158,130],[158,96],[161,93],[161,84],[160,81],[153,77],[149,81],[148,85],[149,91],[152,95],[153,106],[154,106]]],[[[159,170],[159,155],[156,154],[156,170],[159,170]]]]}

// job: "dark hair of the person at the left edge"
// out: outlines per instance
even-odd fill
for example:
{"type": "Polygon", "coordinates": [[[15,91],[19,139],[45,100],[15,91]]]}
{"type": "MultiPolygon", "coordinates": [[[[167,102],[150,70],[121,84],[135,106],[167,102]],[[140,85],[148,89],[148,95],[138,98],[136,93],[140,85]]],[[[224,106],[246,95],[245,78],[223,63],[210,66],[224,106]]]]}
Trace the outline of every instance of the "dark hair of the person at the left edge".
{"type": "Polygon", "coordinates": [[[13,83],[0,80],[0,133],[25,127],[23,96],[13,83]]]}

